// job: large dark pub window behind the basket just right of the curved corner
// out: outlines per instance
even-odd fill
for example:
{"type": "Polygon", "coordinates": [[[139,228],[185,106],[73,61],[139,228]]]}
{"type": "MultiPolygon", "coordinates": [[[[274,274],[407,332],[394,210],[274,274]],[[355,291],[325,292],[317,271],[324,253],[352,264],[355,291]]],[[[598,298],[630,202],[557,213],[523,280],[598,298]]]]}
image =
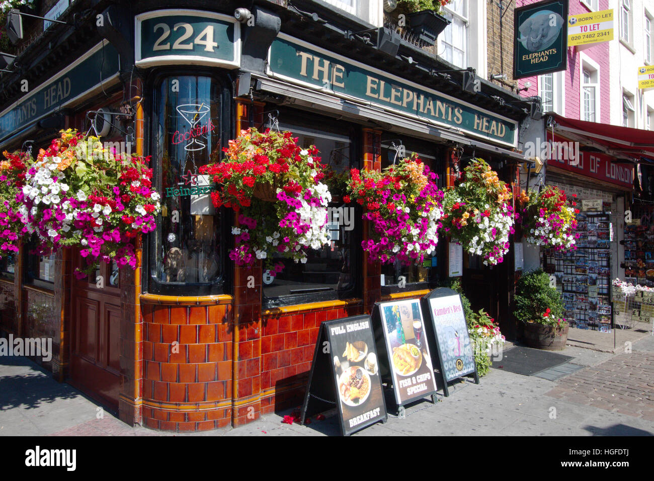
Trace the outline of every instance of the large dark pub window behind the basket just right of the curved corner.
{"type": "MultiPolygon", "coordinates": [[[[301,113],[293,113],[292,120],[284,122],[286,116],[284,112],[281,114],[279,130],[292,132],[294,137],[298,137],[298,145],[315,145],[320,151],[322,164],[326,165],[326,175],[334,182],[345,179],[349,169],[358,166],[353,143],[355,132],[349,126],[334,124],[315,115],[305,117],[301,113]]],[[[323,179],[322,182],[330,185],[331,181],[323,179]]],[[[361,212],[343,202],[343,192],[331,186],[330,192],[330,244],[319,250],[310,249],[305,264],[296,264],[292,259],[275,259],[283,262],[284,270],[276,277],[264,273],[266,306],[330,300],[353,292],[360,272],[356,266],[358,249],[354,246],[360,243],[361,212]]]]}

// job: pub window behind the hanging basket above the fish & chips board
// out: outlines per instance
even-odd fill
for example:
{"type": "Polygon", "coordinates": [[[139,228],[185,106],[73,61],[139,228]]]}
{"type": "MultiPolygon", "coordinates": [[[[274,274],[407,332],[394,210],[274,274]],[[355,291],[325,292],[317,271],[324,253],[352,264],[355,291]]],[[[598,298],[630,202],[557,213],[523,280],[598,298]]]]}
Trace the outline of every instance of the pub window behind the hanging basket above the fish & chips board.
{"type": "MultiPolygon", "coordinates": [[[[412,154],[418,154],[422,162],[429,166],[430,170],[439,175],[438,185],[443,188],[444,176],[438,171],[443,162],[438,162],[439,149],[433,143],[417,141],[395,137],[392,138],[390,132],[382,135],[381,141],[381,168],[385,169],[398,162],[403,156],[410,157],[412,154]]],[[[444,154],[443,154],[444,155],[444,154]]],[[[436,247],[437,252],[441,250],[441,240],[436,247]]],[[[438,281],[438,255],[433,255],[424,259],[421,266],[411,264],[404,266],[397,261],[395,264],[383,264],[381,266],[381,289],[382,294],[394,293],[399,291],[415,291],[425,289],[438,281]],[[400,287],[402,286],[402,287],[400,287]]]]}

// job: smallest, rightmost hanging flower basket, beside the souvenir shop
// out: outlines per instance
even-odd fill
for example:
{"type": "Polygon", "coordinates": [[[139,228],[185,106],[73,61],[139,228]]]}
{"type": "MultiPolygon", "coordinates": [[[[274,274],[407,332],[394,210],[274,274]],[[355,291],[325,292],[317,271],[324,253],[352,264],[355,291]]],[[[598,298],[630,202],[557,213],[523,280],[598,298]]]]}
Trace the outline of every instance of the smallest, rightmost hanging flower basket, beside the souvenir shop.
{"type": "Polygon", "coordinates": [[[547,186],[540,192],[531,191],[528,196],[523,194],[523,227],[526,240],[529,243],[556,249],[570,251],[576,249],[575,241],[579,234],[577,228],[577,203],[566,197],[566,193],[558,187],[547,186]]]}

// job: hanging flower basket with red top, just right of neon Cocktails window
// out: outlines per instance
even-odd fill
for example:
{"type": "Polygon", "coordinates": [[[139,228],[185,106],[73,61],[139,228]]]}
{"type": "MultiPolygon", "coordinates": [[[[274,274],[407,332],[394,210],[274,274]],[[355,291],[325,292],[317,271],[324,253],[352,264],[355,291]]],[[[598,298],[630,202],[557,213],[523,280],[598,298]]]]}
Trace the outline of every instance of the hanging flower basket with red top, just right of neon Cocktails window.
{"type": "Polygon", "coordinates": [[[324,175],[318,150],[301,149],[297,140],[290,132],[241,130],[224,149],[222,162],[200,168],[216,183],[213,204],[238,213],[230,258],[239,266],[262,259],[275,276],[283,264],[275,264],[274,255],[304,263],[309,249],[329,244],[327,204],[332,196],[320,183],[324,175]]]}

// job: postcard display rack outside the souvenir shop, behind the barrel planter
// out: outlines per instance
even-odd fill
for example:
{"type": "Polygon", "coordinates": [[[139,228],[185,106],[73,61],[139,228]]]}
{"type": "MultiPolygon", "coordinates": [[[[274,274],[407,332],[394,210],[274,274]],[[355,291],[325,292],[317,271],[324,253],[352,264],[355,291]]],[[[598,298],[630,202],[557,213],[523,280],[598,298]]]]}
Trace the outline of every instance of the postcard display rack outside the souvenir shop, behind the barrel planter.
{"type": "Polygon", "coordinates": [[[611,213],[577,214],[577,249],[542,249],[543,269],[556,277],[563,317],[572,327],[611,332],[611,213]]]}

